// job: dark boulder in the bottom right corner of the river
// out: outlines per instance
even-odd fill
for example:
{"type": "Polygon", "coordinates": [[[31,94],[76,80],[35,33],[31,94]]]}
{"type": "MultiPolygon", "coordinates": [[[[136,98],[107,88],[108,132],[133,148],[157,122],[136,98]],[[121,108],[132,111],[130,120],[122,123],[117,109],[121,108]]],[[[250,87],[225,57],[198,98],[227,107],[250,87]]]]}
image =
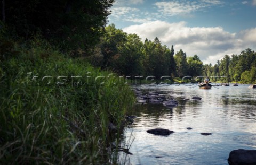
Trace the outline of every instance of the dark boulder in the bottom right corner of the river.
{"type": "Polygon", "coordinates": [[[228,164],[256,164],[256,150],[233,150],[229,153],[228,164]]]}

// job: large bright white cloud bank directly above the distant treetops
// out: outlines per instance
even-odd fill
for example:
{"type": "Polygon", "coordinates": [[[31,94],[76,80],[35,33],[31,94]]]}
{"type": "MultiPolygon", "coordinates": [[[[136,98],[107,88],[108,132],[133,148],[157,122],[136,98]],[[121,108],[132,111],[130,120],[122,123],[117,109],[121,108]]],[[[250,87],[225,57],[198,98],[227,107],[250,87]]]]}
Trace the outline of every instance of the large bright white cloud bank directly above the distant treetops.
{"type": "Polygon", "coordinates": [[[123,30],[138,34],[142,41],[157,37],[162,44],[173,45],[175,53],[182,49],[187,56],[196,54],[204,64],[215,64],[226,54],[240,54],[247,48],[256,48],[256,28],[229,33],[221,27],[187,27],[186,22],[151,21],[123,30]]]}

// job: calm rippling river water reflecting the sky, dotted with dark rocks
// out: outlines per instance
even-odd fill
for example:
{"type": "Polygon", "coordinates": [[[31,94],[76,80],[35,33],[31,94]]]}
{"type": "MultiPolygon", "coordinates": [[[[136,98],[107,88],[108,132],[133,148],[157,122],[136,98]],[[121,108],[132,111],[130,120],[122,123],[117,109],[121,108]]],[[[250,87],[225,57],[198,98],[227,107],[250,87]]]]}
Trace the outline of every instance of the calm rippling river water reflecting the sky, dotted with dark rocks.
{"type": "Polygon", "coordinates": [[[256,149],[256,89],[249,85],[135,86],[143,92],[159,92],[179,102],[172,109],[162,104],[136,104],[134,123],[124,128],[121,164],[228,164],[229,152],[256,149]],[[202,100],[193,100],[201,97],[202,100]],[[188,130],[187,127],[193,129],[188,130]],[[146,131],[166,128],[169,136],[146,131]],[[200,133],[212,133],[203,136],[200,133]]]}

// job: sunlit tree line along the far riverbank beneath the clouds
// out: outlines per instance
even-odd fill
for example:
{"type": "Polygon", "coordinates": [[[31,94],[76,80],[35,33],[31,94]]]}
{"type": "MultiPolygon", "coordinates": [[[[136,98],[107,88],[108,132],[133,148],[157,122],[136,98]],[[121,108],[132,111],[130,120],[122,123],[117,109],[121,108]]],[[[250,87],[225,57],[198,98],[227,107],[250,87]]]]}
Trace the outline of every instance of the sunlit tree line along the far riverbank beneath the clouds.
{"type": "Polygon", "coordinates": [[[212,81],[256,82],[256,53],[249,48],[239,55],[225,55],[213,66],[203,64],[197,55],[187,57],[182,49],[174,54],[173,45],[169,48],[157,37],[143,42],[137,34],[116,29],[115,24],[105,28],[90,60],[123,75],[154,75],[157,79],[203,75],[212,81]]]}

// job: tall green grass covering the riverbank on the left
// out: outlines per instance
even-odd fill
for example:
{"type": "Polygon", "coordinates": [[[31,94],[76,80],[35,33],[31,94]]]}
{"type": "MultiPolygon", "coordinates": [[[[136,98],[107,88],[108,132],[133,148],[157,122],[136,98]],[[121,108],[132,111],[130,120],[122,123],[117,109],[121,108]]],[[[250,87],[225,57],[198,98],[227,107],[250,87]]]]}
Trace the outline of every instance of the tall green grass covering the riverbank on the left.
{"type": "Polygon", "coordinates": [[[108,124],[120,123],[133,92],[84,58],[40,43],[1,45],[0,164],[109,162],[108,124]]]}

